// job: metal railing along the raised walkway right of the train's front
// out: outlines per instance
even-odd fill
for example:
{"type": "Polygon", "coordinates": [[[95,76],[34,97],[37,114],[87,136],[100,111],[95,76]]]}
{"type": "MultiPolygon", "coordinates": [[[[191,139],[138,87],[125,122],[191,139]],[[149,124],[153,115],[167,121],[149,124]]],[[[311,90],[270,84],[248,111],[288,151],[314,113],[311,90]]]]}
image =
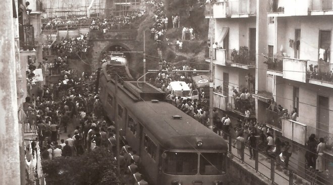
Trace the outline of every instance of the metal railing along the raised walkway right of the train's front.
{"type": "MultiPolygon", "coordinates": [[[[225,132],[222,132],[222,134],[225,134],[225,132]]],[[[241,142],[241,146],[239,146],[236,144],[239,142],[236,141],[237,138],[228,134],[227,143],[229,144],[229,153],[233,154],[229,156],[236,157],[241,163],[246,164],[255,170],[256,173],[270,180],[272,184],[328,184],[329,181],[327,179],[324,179],[321,174],[314,171],[296,172],[288,167],[288,170],[284,170],[283,167],[286,164],[280,160],[280,156],[274,155],[269,150],[266,151],[266,144],[262,143],[258,136],[256,136],[256,145],[254,147],[249,146],[246,144],[247,136],[244,136],[245,142],[241,142]]],[[[230,158],[232,159],[233,157],[230,158]]],[[[283,157],[286,161],[286,156],[283,157]]],[[[289,163],[298,165],[292,160],[289,160],[289,163]]]]}

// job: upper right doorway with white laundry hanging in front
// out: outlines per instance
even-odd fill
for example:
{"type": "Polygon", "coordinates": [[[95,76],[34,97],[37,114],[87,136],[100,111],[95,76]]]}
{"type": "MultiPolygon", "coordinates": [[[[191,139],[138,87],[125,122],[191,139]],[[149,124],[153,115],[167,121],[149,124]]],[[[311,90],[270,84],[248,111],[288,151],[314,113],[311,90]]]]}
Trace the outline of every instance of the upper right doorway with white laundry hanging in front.
{"type": "Polygon", "coordinates": [[[330,62],[330,30],[319,30],[318,61],[330,62]]]}

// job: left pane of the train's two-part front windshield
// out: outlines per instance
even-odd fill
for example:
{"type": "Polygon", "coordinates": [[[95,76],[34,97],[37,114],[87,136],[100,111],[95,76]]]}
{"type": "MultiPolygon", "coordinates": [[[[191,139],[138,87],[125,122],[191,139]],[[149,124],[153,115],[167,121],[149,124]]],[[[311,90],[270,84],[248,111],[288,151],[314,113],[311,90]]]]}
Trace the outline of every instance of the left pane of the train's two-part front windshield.
{"type": "Polygon", "coordinates": [[[163,172],[172,175],[195,175],[198,171],[198,154],[189,152],[166,152],[163,172]]]}

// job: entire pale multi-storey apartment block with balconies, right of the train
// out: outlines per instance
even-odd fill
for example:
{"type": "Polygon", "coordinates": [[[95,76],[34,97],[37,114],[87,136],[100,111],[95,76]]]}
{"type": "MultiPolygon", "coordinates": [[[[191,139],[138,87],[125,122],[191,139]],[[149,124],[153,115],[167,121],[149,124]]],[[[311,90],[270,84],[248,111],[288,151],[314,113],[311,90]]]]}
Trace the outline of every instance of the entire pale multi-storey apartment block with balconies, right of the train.
{"type": "Polygon", "coordinates": [[[250,104],[255,107],[251,114],[275,136],[293,141],[292,166],[303,172],[305,145],[312,133],[325,138],[326,169],[332,170],[332,5],[331,0],[229,0],[211,3],[206,13],[214,22],[211,42],[223,48],[212,52],[214,106],[239,112],[233,110],[233,89],[251,89],[255,102],[250,104]],[[241,55],[241,47],[247,47],[246,55],[241,55]],[[296,108],[296,121],[280,120],[281,115],[272,119],[267,110],[271,98],[288,112],[296,108]]]}

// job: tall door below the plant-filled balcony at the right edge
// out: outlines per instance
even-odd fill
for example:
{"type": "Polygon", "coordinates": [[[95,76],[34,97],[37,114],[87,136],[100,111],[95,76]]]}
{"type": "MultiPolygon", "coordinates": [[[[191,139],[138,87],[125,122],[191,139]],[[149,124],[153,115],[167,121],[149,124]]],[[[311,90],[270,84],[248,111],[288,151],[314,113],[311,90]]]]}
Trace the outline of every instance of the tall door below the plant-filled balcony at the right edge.
{"type": "Polygon", "coordinates": [[[328,121],[329,121],[329,110],[328,110],[327,97],[318,96],[318,107],[317,107],[317,135],[318,137],[328,136],[328,121]]]}

